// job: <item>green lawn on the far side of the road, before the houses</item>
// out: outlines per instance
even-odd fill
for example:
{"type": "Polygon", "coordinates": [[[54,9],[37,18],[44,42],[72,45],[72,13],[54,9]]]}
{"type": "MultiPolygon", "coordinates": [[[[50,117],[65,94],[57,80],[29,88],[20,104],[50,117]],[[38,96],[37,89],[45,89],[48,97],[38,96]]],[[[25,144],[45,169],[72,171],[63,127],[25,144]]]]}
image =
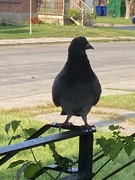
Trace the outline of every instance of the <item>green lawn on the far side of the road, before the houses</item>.
{"type": "MultiPolygon", "coordinates": [[[[124,18],[108,18],[98,17],[95,22],[110,23],[110,24],[130,24],[131,20],[124,18]]],[[[135,36],[135,31],[120,30],[105,27],[81,27],[77,25],[61,26],[56,24],[34,24],[32,26],[32,35],[29,34],[29,24],[15,26],[0,25],[0,39],[19,39],[19,38],[41,38],[41,37],[115,37],[118,36],[135,36]]]]}

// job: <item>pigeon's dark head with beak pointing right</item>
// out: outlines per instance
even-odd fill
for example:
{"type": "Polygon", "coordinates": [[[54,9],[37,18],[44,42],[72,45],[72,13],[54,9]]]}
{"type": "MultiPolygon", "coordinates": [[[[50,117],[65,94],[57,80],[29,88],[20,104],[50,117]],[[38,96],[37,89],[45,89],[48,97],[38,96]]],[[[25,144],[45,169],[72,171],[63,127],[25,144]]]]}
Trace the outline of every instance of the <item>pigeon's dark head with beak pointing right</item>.
{"type": "Polygon", "coordinates": [[[90,45],[87,39],[82,36],[74,38],[69,46],[69,52],[70,51],[81,52],[87,49],[94,49],[94,48],[90,45]]]}

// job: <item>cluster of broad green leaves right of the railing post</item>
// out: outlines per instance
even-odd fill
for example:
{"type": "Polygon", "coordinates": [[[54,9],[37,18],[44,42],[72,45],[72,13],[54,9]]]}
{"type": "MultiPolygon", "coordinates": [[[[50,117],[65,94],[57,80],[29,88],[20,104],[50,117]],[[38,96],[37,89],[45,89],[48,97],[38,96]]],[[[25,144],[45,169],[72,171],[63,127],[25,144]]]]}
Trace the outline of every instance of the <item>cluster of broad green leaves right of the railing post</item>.
{"type": "Polygon", "coordinates": [[[109,130],[112,131],[112,137],[107,139],[102,136],[96,141],[96,144],[102,148],[104,154],[109,156],[112,161],[117,158],[122,149],[125,150],[128,156],[135,149],[135,138],[121,135],[122,129],[123,127],[119,125],[110,125],[109,130]]]}

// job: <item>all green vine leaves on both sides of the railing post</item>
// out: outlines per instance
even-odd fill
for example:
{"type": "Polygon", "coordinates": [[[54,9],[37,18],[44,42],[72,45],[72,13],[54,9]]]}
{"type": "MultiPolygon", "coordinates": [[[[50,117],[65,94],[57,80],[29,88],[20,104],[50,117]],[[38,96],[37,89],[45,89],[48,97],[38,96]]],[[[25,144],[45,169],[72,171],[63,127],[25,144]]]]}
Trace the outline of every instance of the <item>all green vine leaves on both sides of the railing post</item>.
{"type": "MultiPolygon", "coordinates": [[[[96,140],[96,144],[102,148],[104,154],[106,156],[109,156],[112,161],[114,161],[118,157],[121,150],[124,149],[127,155],[130,156],[135,149],[135,138],[132,136],[121,135],[122,129],[123,127],[119,125],[111,125],[109,126],[109,130],[112,132],[112,136],[110,138],[102,136],[101,138],[98,138],[96,140]]],[[[36,132],[36,129],[24,129],[21,125],[21,121],[14,120],[6,124],[5,131],[9,137],[8,144],[11,144],[13,140],[19,139],[21,137],[27,139],[29,136],[36,132]],[[21,135],[18,134],[19,128],[23,132],[21,133],[21,135]],[[11,136],[11,134],[13,135],[11,136]]],[[[19,180],[22,175],[24,176],[24,178],[34,178],[36,173],[38,173],[40,170],[42,172],[46,172],[49,176],[51,176],[52,179],[57,179],[66,169],[71,168],[73,165],[78,163],[78,159],[75,159],[74,162],[72,159],[63,157],[61,154],[59,154],[54,143],[49,144],[49,149],[52,152],[54,163],[62,169],[55,178],[53,178],[51,174],[44,170],[41,159],[36,158],[32,149],[30,149],[30,153],[33,156],[33,161],[30,161],[29,159],[19,159],[17,161],[11,162],[8,166],[8,169],[20,166],[17,170],[16,180],[19,180]]]]}

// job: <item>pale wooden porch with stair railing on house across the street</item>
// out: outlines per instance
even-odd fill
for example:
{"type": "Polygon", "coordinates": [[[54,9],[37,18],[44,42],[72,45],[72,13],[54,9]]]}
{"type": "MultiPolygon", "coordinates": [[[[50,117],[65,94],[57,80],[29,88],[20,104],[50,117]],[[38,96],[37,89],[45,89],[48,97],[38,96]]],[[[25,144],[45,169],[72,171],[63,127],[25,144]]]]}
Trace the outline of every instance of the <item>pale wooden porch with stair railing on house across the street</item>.
{"type": "Polygon", "coordinates": [[[39,1],[38,11],[40,14],[57,15],[69,17],[69,10],[76,10],[78,17],[70,16],[70,19],[77,25],[93,25],[93,8],[89,7],[82,0],[50,0],[39,1]]]}

